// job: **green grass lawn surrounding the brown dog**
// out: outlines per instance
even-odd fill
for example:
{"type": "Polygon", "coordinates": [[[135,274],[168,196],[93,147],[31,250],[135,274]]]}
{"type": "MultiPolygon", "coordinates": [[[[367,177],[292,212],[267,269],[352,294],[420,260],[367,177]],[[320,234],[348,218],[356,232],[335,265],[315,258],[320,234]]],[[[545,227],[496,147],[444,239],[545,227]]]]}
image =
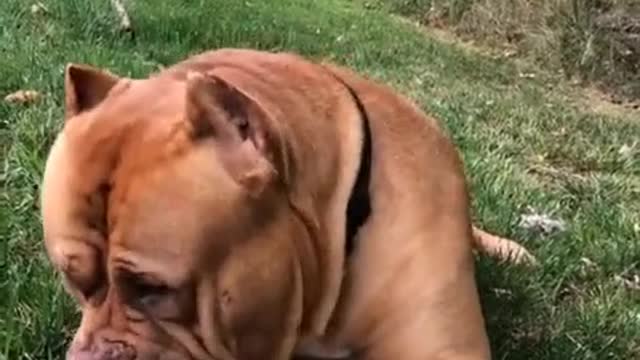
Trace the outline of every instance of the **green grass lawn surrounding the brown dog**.
{"type": "Polygon", "coordinates": [[[107,0],[43,3],[48,13],[34,16],[31,2],[0,1],[0,95],[45,94],[32,106],[0,102],[1,360],[59,358],[78,320],[45,258],[38,214],[65,63],[144,76],[223,46],[334,59],[441,120],[464,158],[478,223],[541,261],[525,269],[478,260],[495,359],[640,358],[640,292],[618,280],[640,275],[640,123],[632,115],[576,108],[544,74],[523,79],[509,62],[346,0],[136,0],[134,39],[115,31],[107,0]],[[528,207],[562,218],[567,231],[519,229],[528,207]]]}

